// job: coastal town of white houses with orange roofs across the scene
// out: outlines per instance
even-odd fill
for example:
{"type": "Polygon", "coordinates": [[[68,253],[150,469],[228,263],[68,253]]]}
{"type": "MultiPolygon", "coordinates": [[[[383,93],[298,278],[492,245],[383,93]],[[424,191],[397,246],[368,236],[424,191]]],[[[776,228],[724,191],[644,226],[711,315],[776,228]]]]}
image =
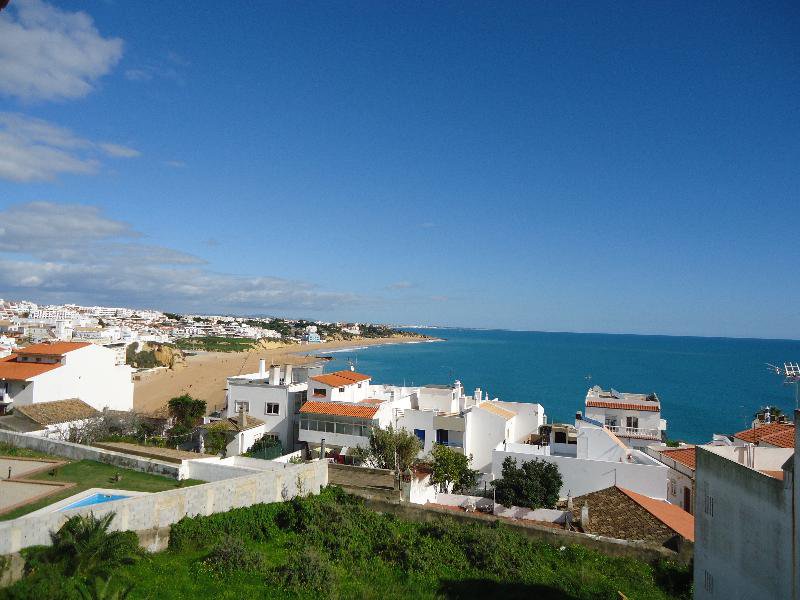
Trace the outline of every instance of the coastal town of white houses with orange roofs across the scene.
{"type": "MultiPolygon", "coordinates": [[[[329,372],[330,357],[308,355],[293,363],[265,356],[255,372],[230,373],[222,408],[184,394],[143,411],[134,402],[137,369],[120,360],[120,344],[269,330],[232,317],[132,309],[3,303],[3,310],[11,342],[0,358],[2,448],[242,486],[242,494],[208,506],[211,513],[264,501],[244,492],[254,481],[283,486],[284,500],[331,483],[389,504],[560,532],[565,543],[633,544],[638,550],[630,552],[691,560],[696,598],[765,590],[761,597],[792,597],[792,548],[800,536],[796,428],[775,410],[754,412],[743,431],[686,444],[670,440],[656,393],[595,385],[576,399],[574,419],[551,422],[546,399],[507,401],[459,380],[389,385],[354,367],[329,372]],[[83,337],[89,330],[98,337],[83,337]],[[385,443],[393,454],[382,450],[385,443]],[[446,470],[447,461],[461,466],[446,470]],[[551,486],[549,499],[498,499],[516,470],[534,468],[551,474],[537,484],[551,486]],[[286,469],[297,471],[291,489],[281,479],[286,469]],[[757,515],[757,531],[741,515],[757,515]],[[758,552],[731,561],[730,548],[744,546],[758,552]]],[[[355,327],[348,324],[347,333],[356,335],[355,327]]],[[[31,478],[31,467],[13,453],[0,456],[7,470],[0,517],[18,515],[0,522],[0,554],[44,543],[42,536],[18,535],[31,519],[51,523],[61,511],[84,506],[149,514],[171,494],[127,490],[123,482],[119,493],[62,495],[31,478]]],[[[137,527],[150,527],[149,518],[137,527]]]]}

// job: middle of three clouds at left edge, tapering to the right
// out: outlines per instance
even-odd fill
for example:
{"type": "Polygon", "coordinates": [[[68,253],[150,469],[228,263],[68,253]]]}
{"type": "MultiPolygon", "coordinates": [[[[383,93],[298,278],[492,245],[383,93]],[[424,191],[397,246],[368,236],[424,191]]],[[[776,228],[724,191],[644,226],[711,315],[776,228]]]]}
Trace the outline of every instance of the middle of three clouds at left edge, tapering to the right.
{"type": "Polygon", "coordinates": [[[140,152],[110,142],[93,142],[65,127],[19,113],[0,112],[0,178],[43,181],[61,173],[91,174],[99,158],[133,158],[140,152]]]}

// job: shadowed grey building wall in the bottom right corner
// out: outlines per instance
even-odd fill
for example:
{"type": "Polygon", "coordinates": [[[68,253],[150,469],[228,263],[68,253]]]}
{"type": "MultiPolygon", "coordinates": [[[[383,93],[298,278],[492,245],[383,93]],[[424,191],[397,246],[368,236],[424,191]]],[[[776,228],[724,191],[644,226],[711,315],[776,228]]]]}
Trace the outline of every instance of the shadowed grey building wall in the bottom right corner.
{"type": "Polygon", "coordinates": [[[795,597],[790,474],[781,481],[704,447],[695,473],[694,597],[795,597]]]}

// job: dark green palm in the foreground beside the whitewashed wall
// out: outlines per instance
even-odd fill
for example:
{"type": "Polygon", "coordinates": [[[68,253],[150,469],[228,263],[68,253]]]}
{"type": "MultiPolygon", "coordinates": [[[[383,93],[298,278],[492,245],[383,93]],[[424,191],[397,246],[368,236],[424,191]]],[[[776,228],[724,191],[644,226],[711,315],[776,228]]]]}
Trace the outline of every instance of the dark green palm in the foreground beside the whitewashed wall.
{"type": "Polygon", "coordinates": [[[107,576],[111,570],[134,562],[139,556],[136,534],[111,531],[114,513],[97,518],[93,514],[69,519],[56,533],[49,562],[61,563],[65,575],[107,576]]]}

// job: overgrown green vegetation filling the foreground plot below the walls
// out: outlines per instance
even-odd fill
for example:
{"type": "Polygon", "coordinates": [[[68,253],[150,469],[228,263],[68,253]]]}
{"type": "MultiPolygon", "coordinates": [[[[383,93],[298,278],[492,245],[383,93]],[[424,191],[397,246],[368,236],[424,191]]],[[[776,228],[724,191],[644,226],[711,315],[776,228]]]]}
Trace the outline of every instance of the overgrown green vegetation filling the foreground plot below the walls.
{"type": "MultiPolygon", "coordinates": [[[[132,598],[689,598],[688,569],[535,542],[502,525],[415,523],[328,488],[172,527],[170,547],[115,570],[132,598]],[[243,557],[241,561],[239,557],[243,557]]],[[[0,598],[32,598],[30,576],[0,598]]],[[[74,577],[39,598],[75,598],[74,577]]]]}

